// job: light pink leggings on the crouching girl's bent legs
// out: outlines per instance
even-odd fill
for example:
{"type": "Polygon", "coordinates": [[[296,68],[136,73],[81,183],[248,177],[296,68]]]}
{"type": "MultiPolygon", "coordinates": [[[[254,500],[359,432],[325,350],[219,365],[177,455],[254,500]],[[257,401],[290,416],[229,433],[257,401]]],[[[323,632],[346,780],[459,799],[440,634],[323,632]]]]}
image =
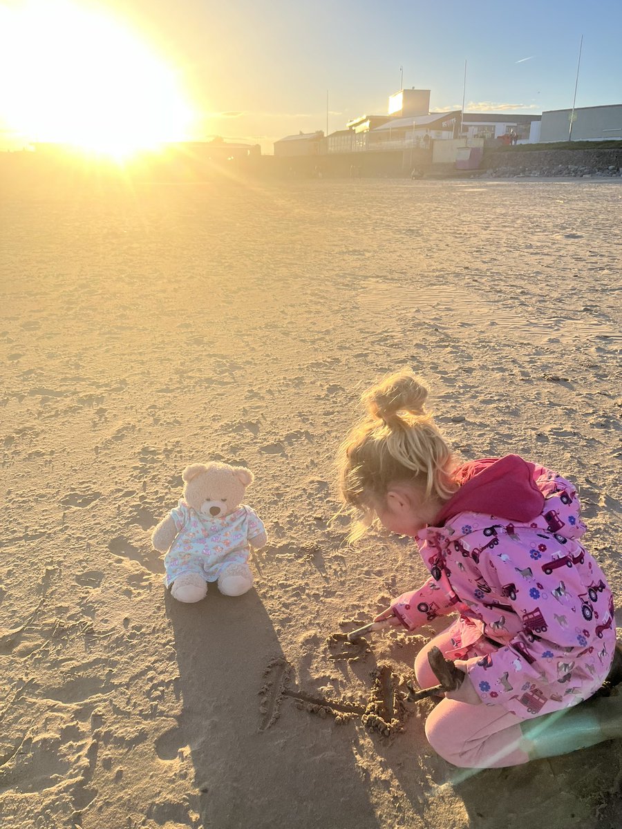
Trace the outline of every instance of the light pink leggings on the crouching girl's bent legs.
{"type": "MultiPolygon", "coordinates": [[[[430,647],[439,647],[444,654],[454,649],[450,638],[451,626],[417,654],[415,676],[421,688],[439,684],[428,663],[428,652],[430,647]]],[[[482,657],[485,652],[476,643],[469,647],[466,658],[482,657]]],[[[468,705],[445,698],[425,720],[425,736],[437,754],[460,768],[518,766],[529,760],[519,748],[521,722],[501,705],[468,705]]]]}

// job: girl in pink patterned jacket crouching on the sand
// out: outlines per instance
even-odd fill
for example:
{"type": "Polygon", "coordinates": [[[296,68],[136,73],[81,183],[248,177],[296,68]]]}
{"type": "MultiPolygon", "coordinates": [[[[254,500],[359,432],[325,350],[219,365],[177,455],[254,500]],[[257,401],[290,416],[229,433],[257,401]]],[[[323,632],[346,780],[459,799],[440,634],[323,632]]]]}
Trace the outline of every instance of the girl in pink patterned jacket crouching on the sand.
{"type": "Polygon", "coordinates": [[[498,768],[622,737],[622,694],[594,696],[622,678],[610,673],[622,651],[576,487],[518,455],[460,463],[427,395],[411,371],[373,385],[338,468],[351,538],[377,519],[415,539],[431,574],[374,621],[415,631],[458,614],[415,659],[422,688],[439,684],[438,656],[454,681],[425,723],[430,744],[456,766],[498,768]]]}

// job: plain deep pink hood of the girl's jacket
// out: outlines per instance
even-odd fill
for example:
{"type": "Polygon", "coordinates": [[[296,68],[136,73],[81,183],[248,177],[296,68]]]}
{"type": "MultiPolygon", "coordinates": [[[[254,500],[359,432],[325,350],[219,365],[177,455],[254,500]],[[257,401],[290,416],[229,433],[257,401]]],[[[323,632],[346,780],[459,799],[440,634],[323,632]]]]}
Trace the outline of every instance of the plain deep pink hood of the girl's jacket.
{"type": "Polygon", "coordinates": [[[442,508],[434,526],[460,512],[481,512],[508,521],[532,521],[540,515],[544,496],[537,488],[536,467],[518,455],[482,458],[457,468],[460,488],[442,508]]]}

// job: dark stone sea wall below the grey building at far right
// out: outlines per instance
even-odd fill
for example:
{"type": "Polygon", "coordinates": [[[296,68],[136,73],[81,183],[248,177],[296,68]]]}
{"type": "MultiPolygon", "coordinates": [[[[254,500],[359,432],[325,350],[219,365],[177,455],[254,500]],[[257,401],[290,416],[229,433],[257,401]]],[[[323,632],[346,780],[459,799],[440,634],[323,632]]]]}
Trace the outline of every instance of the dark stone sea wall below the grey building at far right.
{"type": "Polygon", "coordinates": [[[620,177],[622,149],[484,150],[480,169],[489,177],[620,177]]]}

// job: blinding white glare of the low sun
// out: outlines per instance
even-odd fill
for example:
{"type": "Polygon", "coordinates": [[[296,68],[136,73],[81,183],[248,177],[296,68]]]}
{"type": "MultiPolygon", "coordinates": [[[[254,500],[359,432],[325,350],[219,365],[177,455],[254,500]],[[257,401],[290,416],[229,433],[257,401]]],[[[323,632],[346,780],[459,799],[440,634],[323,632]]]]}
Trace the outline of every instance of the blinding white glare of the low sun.
{"type": "Polygon", "coordinates": [[[127,158],[191,137],[174,71],[97,7],[29,0],[0,7],[0,118],[32,142],[127,158]]]}

